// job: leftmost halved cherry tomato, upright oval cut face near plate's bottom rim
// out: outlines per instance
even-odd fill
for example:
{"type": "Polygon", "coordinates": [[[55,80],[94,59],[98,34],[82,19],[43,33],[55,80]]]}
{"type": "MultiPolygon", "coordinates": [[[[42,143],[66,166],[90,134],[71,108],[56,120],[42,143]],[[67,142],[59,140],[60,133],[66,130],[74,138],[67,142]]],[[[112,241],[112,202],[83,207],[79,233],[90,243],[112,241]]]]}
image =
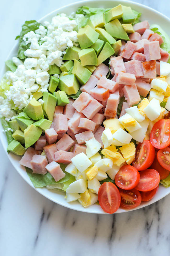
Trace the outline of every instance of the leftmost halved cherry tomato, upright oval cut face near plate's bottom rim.
{"type": "MultiPolygon", "coordinates": [[[[111,195],[109,195],[111,197],[111,195]]],[[[112,199],[112,198],[110,198],[112,199]]],[[[98,192],[98,200],[99,200],[99,204],[101,206],[101,208],[107,212],[107,213],[114,213],[118,210],[118,208],[120,207],[120,203],[121,203],[121,196],[120,196],[120,192],[118,190],[118,188],[116,187],[115,184],[113,184],[112,182],[104,182],[103,184],[101,184],[100,188],[99,188],[99,192],[98,192]],[[106,200],[107,195],[109,194],[110,190],[112,190],[112,196],[115,197],[115,203],[116,205],[114,205],[114,207],[110,208],[109,206],[106,205],[106,203],[104,202],[104,200],[106,200]]],[[[108,202],[108,200],[107,200],[108,202]]]]}

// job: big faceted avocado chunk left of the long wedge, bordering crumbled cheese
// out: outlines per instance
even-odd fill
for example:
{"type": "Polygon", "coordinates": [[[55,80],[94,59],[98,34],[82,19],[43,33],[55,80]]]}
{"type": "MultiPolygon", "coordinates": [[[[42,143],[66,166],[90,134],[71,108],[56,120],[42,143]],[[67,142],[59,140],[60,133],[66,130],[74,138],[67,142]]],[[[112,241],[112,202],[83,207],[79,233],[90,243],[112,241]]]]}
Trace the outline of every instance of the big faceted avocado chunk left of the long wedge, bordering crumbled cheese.
{"type": "Polygon", "coordinates": [[[33,98],[28,105],[24,108],[24,112],[33,120],[39,120],[44,118],[41,103],[33,98]]]}

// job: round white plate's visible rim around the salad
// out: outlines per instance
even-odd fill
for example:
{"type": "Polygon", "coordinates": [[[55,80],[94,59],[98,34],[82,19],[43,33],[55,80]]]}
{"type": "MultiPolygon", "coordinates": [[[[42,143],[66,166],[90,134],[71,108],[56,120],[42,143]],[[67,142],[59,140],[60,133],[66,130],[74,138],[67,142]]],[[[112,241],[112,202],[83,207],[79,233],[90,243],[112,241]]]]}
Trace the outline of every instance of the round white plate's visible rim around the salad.
{"type": "MultiPolygon", "coordinates": [[[[149,8],[149,7],[146,7],[142,4],[134,3],[134,2],[131,2],[131,1],[98,1],[98,0],[81,1],[81,2],[69,4],[65,7],[59,8],[59,9],[49,13],[48,15],[43,17],[42,19],[40,19],[39,22],[51,21],[52,17],[54,17],[58,13],[66,13],[67,15],[70,15],[72,12],[75,12],[78,7],[81,7],[81,6],[113,8],[114,6],[117,6],[118,4],[131,6],[132,9],[135,9],[136,11],[142,13],[141,20],[148,20],[150,24],[159,24],[167,32],[167,34],[169,34],[169,27],[170,27],[170,19],[169,18],[167,18],[165,15],[155,11],[152,8],[149,8]]],[[[10,54],[8,55],[7,60],[12,59],[12,57],[16,56],[17,55],[17,50],[18,50],[18,44],[16,44],[14,46],[14,48],[12,49],[10,54]]],[[[3,74],[6,71],[7,71],[7,69],[4,65],[4,68],[1,72],[1,77],[3,76],[3,74]]],[[[2,125],[0,123],[1,142],[2,142],[4,150],[7,152],[7,150],[6,150],[7,149],[7,139],[6,139],[5,133],[2,130],[3,130],[2,125]]],[[[35,190],[37,190],[40,194],[42,194],[43,196],[52,200],[53,202],[58,203],[60,205],[63,205],[67,208],[77,210],[77,211],[83,211],[83,212],[89,212],[89,213],[105,213],[101,209],[101,207],[97,204],[92,205],[88,208],[84,208],[78,202],[67,203],[66,200],[64,199],[63,192],[55,193],[55,192],[49,191],[46,188],[35,188],[32,185],[31,180],[27,176],[25,168],[19,164],[19,160],[20,160],[21,157],[16,156],[12,153],[10,153],[10,154],[7,153],[7,155],[9,157],[10,162],[13,164],[13,166],[18,171],[18,173],[23,177],[23,179],[28,184],[30,184],[30,186],[32,186],[35,190]]],[[[152,200],[150,200],[148,202],[142,202],[137,208],[135,208],[133,210],[136,210],[136,209],[145,207],[147,205],[150,205],[151,203],[154,203],[154,202],[160,200],[161,198],[165,197],[169,193],[170,193],[170,187],[166,189],[165,187],[163,187],[161,185],[157,194],[156,194],[156,196],[152,200]]],[[[119,212],[126,212],[126,210],[123,210],[123,209],[120,208],[120,209],[117,210],[116,213],[119,213],[119,212]]]]}

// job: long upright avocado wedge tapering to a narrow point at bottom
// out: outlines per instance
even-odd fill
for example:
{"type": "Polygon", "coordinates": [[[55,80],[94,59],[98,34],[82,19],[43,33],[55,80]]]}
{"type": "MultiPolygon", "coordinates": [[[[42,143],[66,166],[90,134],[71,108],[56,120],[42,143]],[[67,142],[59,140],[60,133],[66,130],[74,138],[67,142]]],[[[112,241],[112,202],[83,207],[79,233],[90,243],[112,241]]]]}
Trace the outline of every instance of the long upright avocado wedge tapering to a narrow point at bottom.
{"type": "Polygon", "coordinates": [[[57,98],[54,97],[54,95],[52,95],[49,92],[44,92],[43,93],[43,101],[44,101],[43,109],[46,112],[48,119],[50,121],[53,121],[57,98]]]}

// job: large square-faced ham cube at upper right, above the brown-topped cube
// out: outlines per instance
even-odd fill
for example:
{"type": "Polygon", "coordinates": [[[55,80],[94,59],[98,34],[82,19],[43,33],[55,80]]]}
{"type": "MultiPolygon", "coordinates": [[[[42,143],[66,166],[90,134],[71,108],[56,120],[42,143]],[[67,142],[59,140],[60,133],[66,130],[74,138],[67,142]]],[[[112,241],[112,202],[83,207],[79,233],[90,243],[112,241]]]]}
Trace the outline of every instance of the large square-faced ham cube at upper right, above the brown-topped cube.
{"type": "Polygon", "coordinates": [[[143,47],[146,61],[157,60],[161,58],[158,41],[144,43],[143,47]]]}

